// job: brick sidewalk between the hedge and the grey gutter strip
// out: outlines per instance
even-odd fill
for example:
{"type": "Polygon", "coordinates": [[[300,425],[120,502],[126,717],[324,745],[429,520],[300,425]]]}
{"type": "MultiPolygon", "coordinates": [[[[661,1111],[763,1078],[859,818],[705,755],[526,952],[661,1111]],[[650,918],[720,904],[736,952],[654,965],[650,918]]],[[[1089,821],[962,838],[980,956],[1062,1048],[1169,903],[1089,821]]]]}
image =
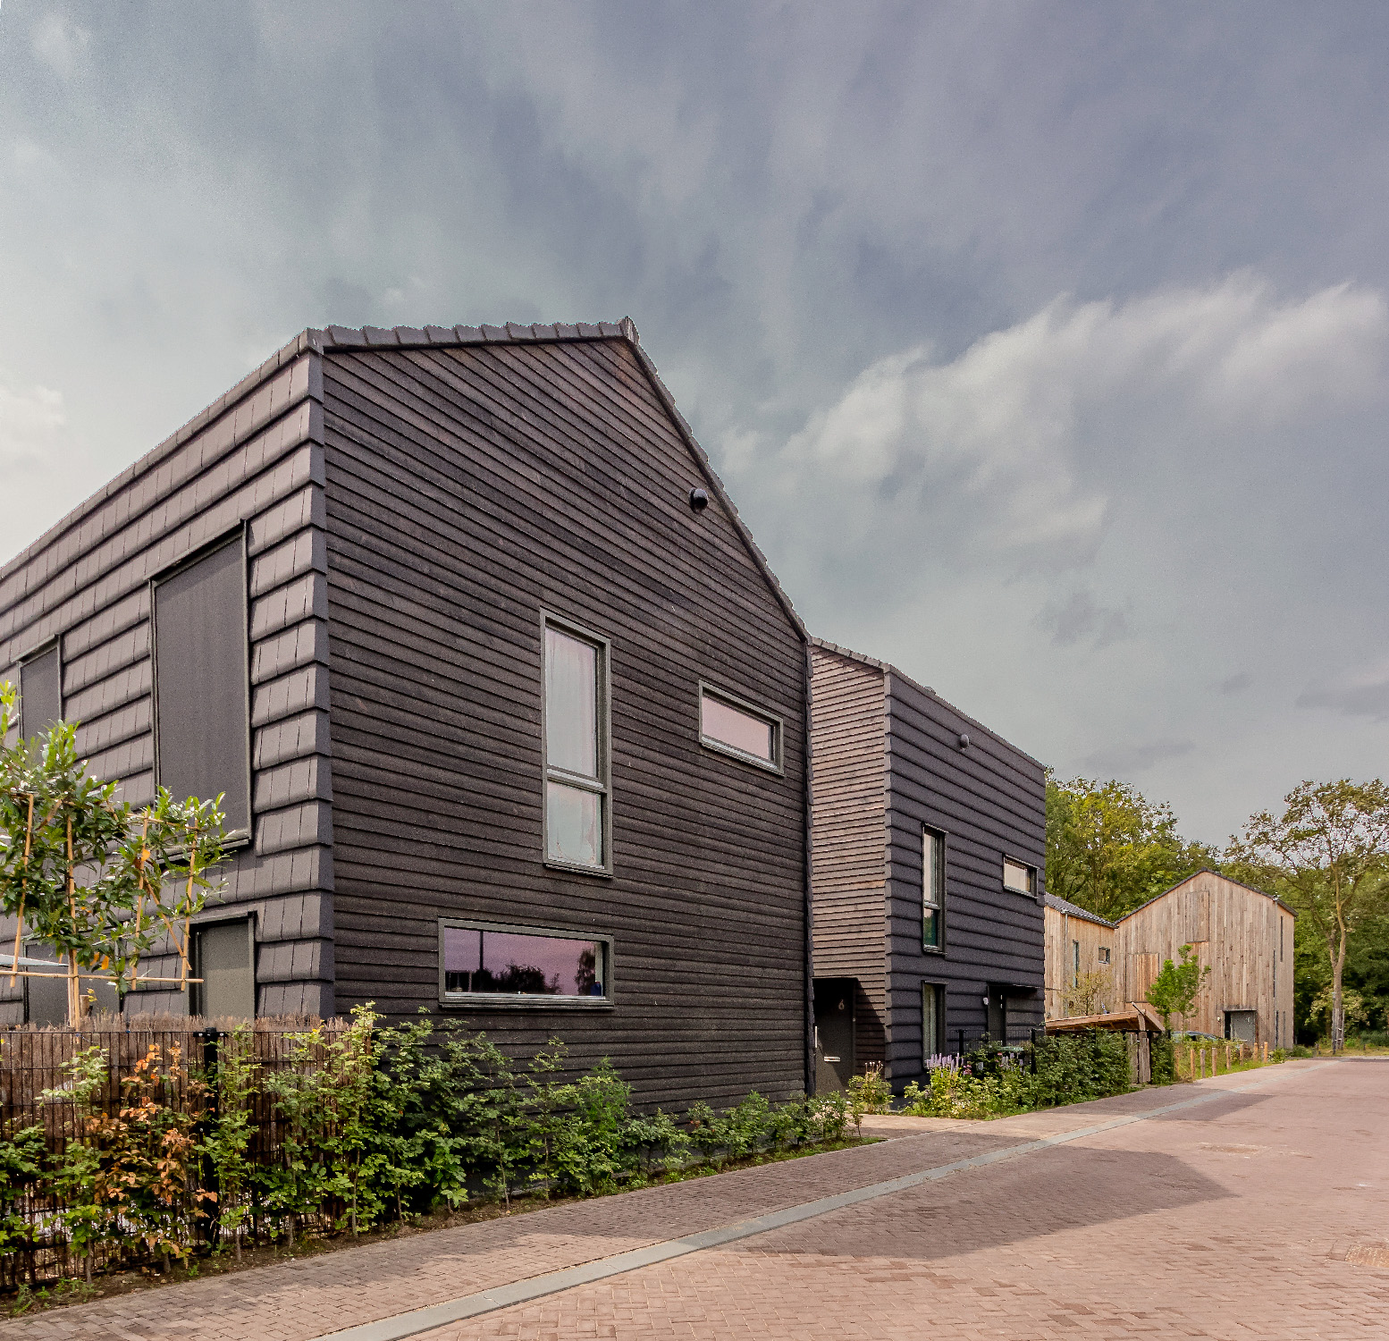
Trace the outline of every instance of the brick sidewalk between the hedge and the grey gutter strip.
{"type": "MultiPolygon", "coordinates": [[[[1233,1076],[1228,1077],[1228,1083],[1247,1083],[1249,1078],[1233,1076]]],[[[1221,1085],[1224,1081],[1226,1077],[1204,1085],[1221,1085]]],[[[140,1341],[308,1341],[343,1327],[745,1220],[1039,1135],[1078,1130],[1104,1117],[1158,1108],[1195,1092],[1189,1087],[1142,1091],[992,1123],[917,1119],[913,1126],[920,1124],[924,1130],[910,1135],[900,1134],[900,1123],[888,1123],[882,1126],[896,1126],[899,1130],[890,1134],[899,1138],[879,1145],[140,1291],[7,1322],[0,1324],[0,1334],[24,1341],[104,1341],[110,1337],[140,1341]]],[[[870,1124],[871,1120],[865,1121],[865,1134],[871,1130],[870,1124]]],[[[889,1133],[885,1130],[883,1134],[889,1133]]]]}

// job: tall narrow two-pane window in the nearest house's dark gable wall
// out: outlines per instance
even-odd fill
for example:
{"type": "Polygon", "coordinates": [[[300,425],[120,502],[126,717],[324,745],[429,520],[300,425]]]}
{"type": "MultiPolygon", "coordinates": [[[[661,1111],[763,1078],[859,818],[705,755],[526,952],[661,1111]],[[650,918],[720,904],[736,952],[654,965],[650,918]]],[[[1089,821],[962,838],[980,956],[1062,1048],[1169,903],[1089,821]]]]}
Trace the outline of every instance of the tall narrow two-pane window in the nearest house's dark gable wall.
{"type": "Polygon", "coordinates": [[[606,871],[608,860],[608,648],[544,625],[544,856],[606,871]]]}

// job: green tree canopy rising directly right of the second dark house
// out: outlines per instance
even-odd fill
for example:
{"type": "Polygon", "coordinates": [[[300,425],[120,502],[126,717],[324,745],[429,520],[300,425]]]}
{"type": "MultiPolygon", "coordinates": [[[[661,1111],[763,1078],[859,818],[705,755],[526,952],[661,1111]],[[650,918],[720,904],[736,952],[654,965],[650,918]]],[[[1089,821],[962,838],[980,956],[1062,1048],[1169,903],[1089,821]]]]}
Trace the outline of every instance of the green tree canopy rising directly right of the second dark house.
{"type": "Polygon", "coordinates": [[[1182,838],[1165,802],[1117,780],[1047,778],[1046,887],[1058,898],[1113,921],[1206,866],[1218,869],[1218,850],[1182,838]]]}

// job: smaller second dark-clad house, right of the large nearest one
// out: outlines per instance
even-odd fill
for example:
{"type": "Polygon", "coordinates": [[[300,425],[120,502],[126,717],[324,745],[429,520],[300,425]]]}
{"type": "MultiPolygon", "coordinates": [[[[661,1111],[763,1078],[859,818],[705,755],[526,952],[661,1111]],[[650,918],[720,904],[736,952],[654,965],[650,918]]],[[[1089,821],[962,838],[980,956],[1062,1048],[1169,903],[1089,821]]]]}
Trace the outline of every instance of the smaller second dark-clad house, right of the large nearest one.
{"type": "Polygon", "coordinates": [[[900,1092],[1043,1023],[1046,770],[883,661],[811,666],[817,1084],[900,1092]]]}

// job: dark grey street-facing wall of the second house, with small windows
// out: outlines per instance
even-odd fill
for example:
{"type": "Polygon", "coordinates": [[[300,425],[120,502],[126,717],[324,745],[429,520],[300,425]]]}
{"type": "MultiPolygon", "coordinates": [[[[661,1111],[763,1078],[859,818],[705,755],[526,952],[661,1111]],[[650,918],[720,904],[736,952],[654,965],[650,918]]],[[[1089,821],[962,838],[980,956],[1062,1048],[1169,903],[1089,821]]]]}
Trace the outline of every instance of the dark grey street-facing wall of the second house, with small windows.
{"type": "Polygon", "coordinates": [[[978,1038],[989,984],[1006,984],[1010,1037],[1043,1019],[1046,771],[1007,741],[888,675],[889,1035],[896,1088],[922,1073],[921,984],[946,985],[946,1035],[978,1038]],[[970,737],[968,749],[960,735],[970,737]],[[921,946],[921,832],[946,835],[946,952],[921,946]],[[1036,867],[1036,898],[1003,888],[1003,859],[1036,867]]]}

